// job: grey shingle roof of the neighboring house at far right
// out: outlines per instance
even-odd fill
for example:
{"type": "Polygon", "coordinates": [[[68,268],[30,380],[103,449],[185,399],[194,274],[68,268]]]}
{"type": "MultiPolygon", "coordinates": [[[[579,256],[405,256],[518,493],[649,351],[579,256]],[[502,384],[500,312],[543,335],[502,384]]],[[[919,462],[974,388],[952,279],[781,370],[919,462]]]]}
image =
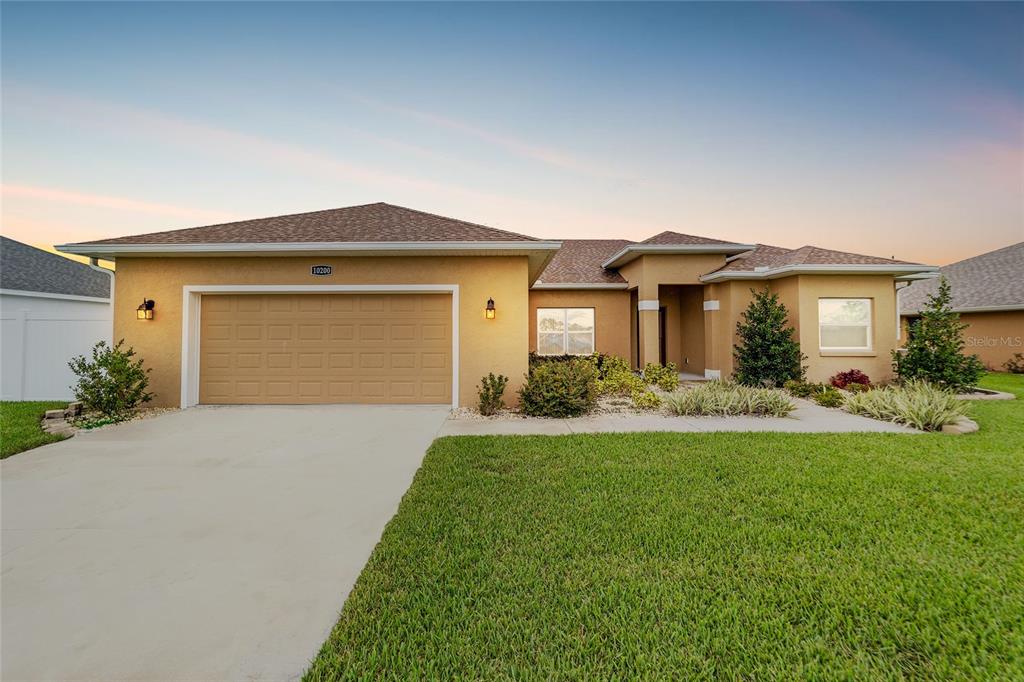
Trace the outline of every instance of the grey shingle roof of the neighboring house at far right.
{"type": "MultiPolygon", "coordinates": [[[[949,281],[954,310],[1024,309],[1024,242],[939,268],[949,281]]],[[[900,292],[900,312],[920,311],[938,291],[938,280],[900,292]]]]}

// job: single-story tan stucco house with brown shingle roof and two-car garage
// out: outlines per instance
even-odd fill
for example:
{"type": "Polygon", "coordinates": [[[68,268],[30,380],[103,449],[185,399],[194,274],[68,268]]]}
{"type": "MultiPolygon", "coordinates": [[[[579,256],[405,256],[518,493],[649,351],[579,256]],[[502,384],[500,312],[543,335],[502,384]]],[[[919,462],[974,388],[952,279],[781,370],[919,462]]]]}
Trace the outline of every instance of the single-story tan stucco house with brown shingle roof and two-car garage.
{"type": "Polygon", "coordinates": [[[59,248],[117,259],[115,336],[153,368],[157,403],[184,407],[471,406],[488,372],[514,401],[530,350],[727,377],[752,288],[788,306],[811,379],[884,379],[895,281],[936,269],[677,232],[545,241],[388,204],[59,248]]]}

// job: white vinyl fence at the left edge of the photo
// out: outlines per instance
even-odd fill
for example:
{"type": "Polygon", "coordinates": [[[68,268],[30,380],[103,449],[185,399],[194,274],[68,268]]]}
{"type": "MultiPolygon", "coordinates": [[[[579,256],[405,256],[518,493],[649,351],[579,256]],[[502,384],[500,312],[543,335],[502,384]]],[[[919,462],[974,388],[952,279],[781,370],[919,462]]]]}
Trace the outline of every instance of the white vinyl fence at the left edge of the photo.
{"type": "Polygon", "coordinates": [[[4,290],[0,293],[0,398],[65,400],[75,375],[68,360],[111,342],[111,301],[4,290]]]}

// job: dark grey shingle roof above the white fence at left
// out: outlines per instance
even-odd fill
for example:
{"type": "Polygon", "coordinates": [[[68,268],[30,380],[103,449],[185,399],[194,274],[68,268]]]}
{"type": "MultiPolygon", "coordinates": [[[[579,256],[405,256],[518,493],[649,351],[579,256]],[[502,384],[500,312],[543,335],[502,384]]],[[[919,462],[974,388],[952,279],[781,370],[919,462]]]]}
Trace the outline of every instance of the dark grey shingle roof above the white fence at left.
{"type": "Polygon", "coordinates": [[[0,237],[0,289],[110,298],[111,275],[63,256],[0,237]]]}

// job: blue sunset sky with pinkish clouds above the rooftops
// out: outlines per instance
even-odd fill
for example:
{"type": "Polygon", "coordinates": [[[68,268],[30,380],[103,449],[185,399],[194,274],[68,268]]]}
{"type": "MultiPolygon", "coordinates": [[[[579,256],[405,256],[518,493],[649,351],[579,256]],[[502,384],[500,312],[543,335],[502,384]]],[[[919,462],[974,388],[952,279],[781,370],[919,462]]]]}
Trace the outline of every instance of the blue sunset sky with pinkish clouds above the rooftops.
{"type": "Polygon", "coordinates": [[[31,244],[377,201],[934,264],[1024,241],[1022,4],[0,11],[31,244]]]}

